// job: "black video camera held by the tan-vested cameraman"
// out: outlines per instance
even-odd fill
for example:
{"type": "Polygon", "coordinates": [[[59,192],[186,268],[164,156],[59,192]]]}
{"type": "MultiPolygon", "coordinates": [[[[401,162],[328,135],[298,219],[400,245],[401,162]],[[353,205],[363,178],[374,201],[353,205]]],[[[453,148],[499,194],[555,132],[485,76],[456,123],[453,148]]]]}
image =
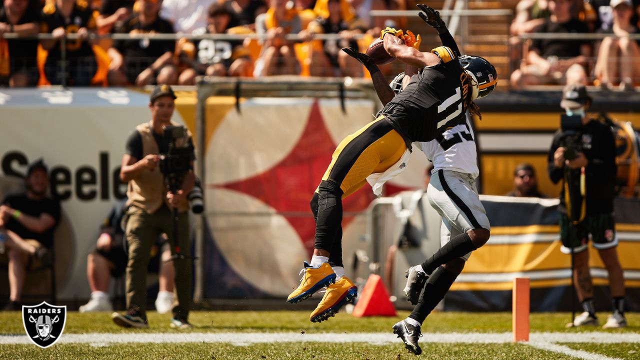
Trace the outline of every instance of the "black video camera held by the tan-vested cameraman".
{"type": "Polygon", "coordinates": [[[193,146],[187,140],[187,130],[184,126],[165,126],[164,140],[169,143],[169,151],[160,154],[160,171],[172,193],[180,190],[180,184],[184,174],[191,169],[193,160],[193,146]],[[178,141],[184,139],[184,144],[178,145],[178,141]]]}

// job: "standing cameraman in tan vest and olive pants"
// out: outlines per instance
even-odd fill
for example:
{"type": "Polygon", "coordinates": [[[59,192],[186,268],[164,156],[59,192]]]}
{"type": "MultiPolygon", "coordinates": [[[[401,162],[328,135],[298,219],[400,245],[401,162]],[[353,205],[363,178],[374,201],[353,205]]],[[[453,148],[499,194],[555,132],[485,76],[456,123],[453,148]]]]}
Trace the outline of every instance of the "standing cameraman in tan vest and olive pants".
{"type": "MultiPolygon", "coordinates": [[[[122,157],[120,179],[129,182],[127,190],[127,228],[125,236],[129,244],[127,263],[127,313],[113,313],[111,318],[123,327],[148,327],[147,324],[147,264],[149,249],[161,233],[168,235],[175,268],[177,303],[174,303],[171,327],[189,329],[189,302],[191,300],[191,261],[184,252],[189,252],[189,204],[186,195],[195,183],[193,171],[193,142],[185,133],[182,138],[169,139],[173,131],[165,131],[173,115],[175,94],[168,85],[158,85],[151,93],[149,109],[151,121],[140,124],[127,140],[127,152],[122,157]],[[174,146],[175,145],[175,146],[174,146]],[[184,173],[166,174],[167,167],[160,154],[170,149],[187,149],[188,167],[184,173]],[[163,174],[164,173],[164,174],[163,174]],[[172,176],[172,177],[170,177],[172,176]],[[167,190],[166,179],[175,178],[179,190],[167,190]],[[177,239],[173,233],[173,209],[178,211],[177,239]]],[[[164,158],[166,159],[166,157],[164,158]]],[[[170,159],[173,160],[173,159],[170,159]]],[[[171,168],[171,166],[169,166],[171,168]]]]}

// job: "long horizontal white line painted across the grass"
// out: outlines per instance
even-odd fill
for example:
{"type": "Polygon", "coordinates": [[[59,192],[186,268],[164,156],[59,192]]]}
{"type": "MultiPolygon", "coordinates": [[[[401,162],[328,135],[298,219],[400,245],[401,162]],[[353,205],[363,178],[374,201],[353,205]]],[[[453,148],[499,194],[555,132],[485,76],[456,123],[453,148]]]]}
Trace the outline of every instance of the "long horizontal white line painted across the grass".
{"type": "MultiPolygon", "coordinates": [[[[426,333],[420,343],[510,343],[511,332],[501,333],[426,333]]],[[[552,343],[640,343],[640,334],[612,332],[533,332],[529,345],[552,343]]],[[[253,343],[397,343],[399,340],[390,332],[344,332],[305,333],[299,332],[141,332],[141,333],[93,333],[62,334],[60,343],[232,343],[249,345],[253,343]]],[[[26,335],[0,335],[0,345],[30,344],[26,335]]],[[[591,359],[591,358],[589,358],[591,359]]],[[[596,358],[594,358],[596,359],[596,358]]],[[[598,357],[597,359],[611,359],[598,357]]]]}

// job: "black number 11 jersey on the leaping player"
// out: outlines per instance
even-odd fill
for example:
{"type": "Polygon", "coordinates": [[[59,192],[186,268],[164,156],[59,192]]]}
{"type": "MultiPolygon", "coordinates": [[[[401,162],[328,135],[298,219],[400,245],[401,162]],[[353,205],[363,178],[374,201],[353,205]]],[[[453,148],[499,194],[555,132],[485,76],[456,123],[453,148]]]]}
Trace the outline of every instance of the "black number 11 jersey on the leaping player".
{"type": "Polygon", "coordinates": [[[471,92],[458,60],[440,61],[413,75],[381,113],[411,149],[412,142],[431,141],[449,127],[463,124],[471,92]]]}

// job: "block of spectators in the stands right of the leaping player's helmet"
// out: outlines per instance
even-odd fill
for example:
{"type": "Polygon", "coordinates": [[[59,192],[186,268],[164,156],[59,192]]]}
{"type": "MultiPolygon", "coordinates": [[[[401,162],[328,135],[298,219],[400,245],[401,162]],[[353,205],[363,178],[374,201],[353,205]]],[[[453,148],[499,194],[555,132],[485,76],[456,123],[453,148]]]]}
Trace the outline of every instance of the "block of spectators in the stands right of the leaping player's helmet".
{"type": "Polygon", "coordinates": [[[564,84],[633,90],[640,84],[640,0],[521,0],[511,24],[512,88],[564,84]],[[602,34],[602,38],[533,38],[526,33],[602,34]]]}

